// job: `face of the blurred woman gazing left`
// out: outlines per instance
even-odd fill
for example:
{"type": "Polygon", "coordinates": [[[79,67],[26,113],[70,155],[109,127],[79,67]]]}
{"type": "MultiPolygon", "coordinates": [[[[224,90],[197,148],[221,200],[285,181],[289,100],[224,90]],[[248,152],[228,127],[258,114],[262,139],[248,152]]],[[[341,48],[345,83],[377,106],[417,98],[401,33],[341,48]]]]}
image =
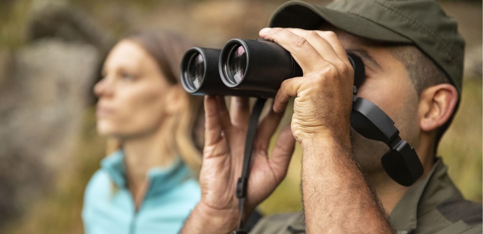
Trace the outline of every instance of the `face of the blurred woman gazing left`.
{"type": "Polygon", "coordinates": [[[101,135],[129,139],[159,129],[170,85],[143,47],[129,40],[117,43],[106,58],[102,76],[94,86],[101,135]]]}

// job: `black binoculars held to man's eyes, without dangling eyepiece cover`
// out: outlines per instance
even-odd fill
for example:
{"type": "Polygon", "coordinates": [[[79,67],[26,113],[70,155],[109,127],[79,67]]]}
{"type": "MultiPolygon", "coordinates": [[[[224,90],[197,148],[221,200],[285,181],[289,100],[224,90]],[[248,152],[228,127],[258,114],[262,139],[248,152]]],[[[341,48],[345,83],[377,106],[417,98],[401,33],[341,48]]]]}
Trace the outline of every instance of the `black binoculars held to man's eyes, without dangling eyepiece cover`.
{"type": "MultiPolygon", "coordinates": [[[[348,55],[355,78],[364,77],[360,58],[348,55]]],[[[275,97],[284,80],[303,75],[287,50],[262,39],[232,39],[221,50],[192,47],[183,56],[179,74],[185,91],[193,95],[258,98],[275,97]]]]}

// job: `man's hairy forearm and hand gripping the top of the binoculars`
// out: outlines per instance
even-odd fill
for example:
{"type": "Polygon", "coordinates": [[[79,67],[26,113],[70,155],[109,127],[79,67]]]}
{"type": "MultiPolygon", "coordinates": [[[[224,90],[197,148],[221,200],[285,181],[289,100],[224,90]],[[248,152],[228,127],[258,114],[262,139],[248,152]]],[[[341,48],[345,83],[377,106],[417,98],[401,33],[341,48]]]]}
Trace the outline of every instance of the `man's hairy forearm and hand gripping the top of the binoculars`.
{"type": "Polygon", "coordinates": [[[388,233],[379,200],[352,155],[353,69],[334,32],[264,28],[304,71],[285,80],[274,110],[295,97],[291,130],[303,148],[301,188],[307,233],[388,233]]]}

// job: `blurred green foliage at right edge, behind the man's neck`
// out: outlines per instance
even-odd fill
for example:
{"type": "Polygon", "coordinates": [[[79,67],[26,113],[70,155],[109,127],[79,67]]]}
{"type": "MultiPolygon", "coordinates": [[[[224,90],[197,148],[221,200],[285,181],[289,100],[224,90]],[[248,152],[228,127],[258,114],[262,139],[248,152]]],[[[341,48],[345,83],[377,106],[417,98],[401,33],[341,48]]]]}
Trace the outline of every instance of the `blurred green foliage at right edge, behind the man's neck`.
{"type": "Polygon", "coordinates": [[[463,195],[481,202],[482,180],[482,85],[481,77],[463,82],[461,106],[454,122],[443,136],[440,155],[448,173],[463,195]]]}

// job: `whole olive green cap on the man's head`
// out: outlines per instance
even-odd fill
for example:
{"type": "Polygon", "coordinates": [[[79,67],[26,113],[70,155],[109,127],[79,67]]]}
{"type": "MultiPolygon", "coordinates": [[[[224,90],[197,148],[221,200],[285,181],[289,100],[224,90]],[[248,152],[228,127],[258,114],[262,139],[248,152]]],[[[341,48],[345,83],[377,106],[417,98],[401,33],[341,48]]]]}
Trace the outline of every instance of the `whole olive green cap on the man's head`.
{"type": "Polygon", "coordinates": [[[336,0],[326,7],[291,1],[275,11],[269,26],[315,30],[326,22],[358,37],[415,45],[461,93],[465,41],[436,1],[336,0]]]}

